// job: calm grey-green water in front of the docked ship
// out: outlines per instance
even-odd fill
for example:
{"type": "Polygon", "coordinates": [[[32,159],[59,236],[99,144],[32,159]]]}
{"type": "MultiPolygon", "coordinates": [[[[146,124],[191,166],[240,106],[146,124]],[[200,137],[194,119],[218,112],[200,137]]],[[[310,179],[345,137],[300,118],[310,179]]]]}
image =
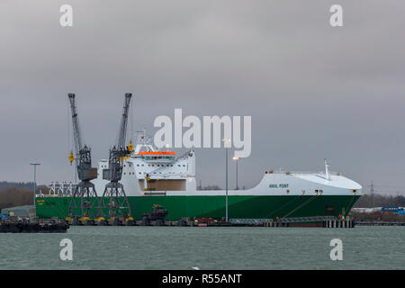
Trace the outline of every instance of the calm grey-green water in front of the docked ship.
{"type": "Polygon", "coordinates": [[[1,269],[405,269],[404,227],[71,227],[67,234],[0,234],[1,269]],[[59,242],[73,241],[73,261],[59,242]],[[343,241],[331,261],[329,242],[343,241]]]}

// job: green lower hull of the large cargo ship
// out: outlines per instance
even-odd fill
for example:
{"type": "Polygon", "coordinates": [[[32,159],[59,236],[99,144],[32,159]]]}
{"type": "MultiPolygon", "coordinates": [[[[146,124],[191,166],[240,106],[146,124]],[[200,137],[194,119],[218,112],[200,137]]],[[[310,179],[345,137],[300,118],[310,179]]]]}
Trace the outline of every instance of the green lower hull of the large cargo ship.
{"type": "MultiPolygon", "coordinates": [[[[338,216],[347,214],[360,195],[283,195],[229,196],[229,219],[279,219],[292,217],[338,216]]],[[[65,219],[70,197],[37,198],[37,216],[65,219]]],[[[166,220],[184,217],[214,218],[225,216],[225,196],[130,196],[131,216],[140,220],[160,204],[168,211],[166,220]]],[[[95,211],[94,211],[95,214],[95,211]]]]}

